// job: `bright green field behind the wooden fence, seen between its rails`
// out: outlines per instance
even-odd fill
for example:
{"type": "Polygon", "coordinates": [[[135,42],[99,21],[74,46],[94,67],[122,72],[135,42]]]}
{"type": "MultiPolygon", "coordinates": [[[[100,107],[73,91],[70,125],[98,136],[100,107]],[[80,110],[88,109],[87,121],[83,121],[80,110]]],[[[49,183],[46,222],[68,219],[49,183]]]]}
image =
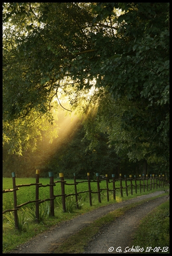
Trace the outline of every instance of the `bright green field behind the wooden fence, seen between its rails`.
{"type": "MultiPolygon", "coordinates": [[[[15,178],[16,181],[16,185],[22,185],[22,184],[34,184],[36,182],[35,178],[15,178]]],[[[55,181],[55,180],[54,180],[55,181]]],[[[57,181],[60,181],[60,179],[57,179],[57,181]]],[[[77,182],[80,182],[81,180],[77,180],[77,182]]],[[[112,180],[110,180],[112,181],[112,180]]],[[[47,185],[50,184],[50,178],[40,178],[39,182],[42,185],[47,185]]],[[[139,186],[139,182],[137,181],[137,194],[140,193],[140,186],[139,186]]],[[[73,184],[74,181],[73,180],[66,180],[67,184],[73,184]]],[[[130,181],[127,182],[127,185],[130,184],[130,181]]],[[[133,185],[135,185],[134,181],[132,182],[133,185]]],[[[148,184],[150,184],[150,181],[148,181],[148,184]]],[[[143,181],[142,181],[142,185],[143,185],[143,181]]],[[[122,181],[122,186],[125,187],[125,182],[122,181]]],[[[119,181],[115,182],[115,187],[118,188],[120,187],[120,183],[119,181]]],[[[156,187],[156,185],[155,185],[156,187]]],[[[13,188],[13,180],[12,178],[3,178],[3,189],[12,189],[13,188]]],[[[112,182],[108,183],[108,188],[109,189],[113,189],[113,184],[112,182]]],[[[91,182],[91,189],[93,192],[97,192],[97,182],[91,182]]],[[[106,181],[103,180],[100,183],[100,189],[106,189],[106,181]]],[[[85,183],[79,183],[77,185],[77,192],[83,192],[83,191],[88,191],[88,182],[85,183]]],[[[141,186],[141,190],[143,193],[143,186],[141,186]]],[[[148,191],[150,190],[150,185],[148,186],[148,191]]],[[[152,190],[153,189],[153,185],[152,185],[152,190]]],[[[123,188],[123,196],[126,195],[126,189],[123,188]]],[[[146,188],[145,188],[146,191],[146,188]]],[[[74,185],[65,185],[65,193],[68,194],[74,194],[75,193],[75,187],[74,185]]],[[[132,187],[132,193],[135,194],[135,187],[132,187]]],[[[16,191],[17,194],[17,205],[20,205],[22,203],[25,203],[27,201],[31,201],[31,200],[35,200],[35,185],[31,185],[31,186],[24,186],[24,187],[20,187],[19,190],[16,191]]],[[[56,183],[54,186],[54,195],[61,195],[61,184],[60,183],[56,183]]],[[[128,195],[131,195],[131,186],[128,187],[128,195]]],[[[116,196],[119,197],[120,196],[120,189],[116,190],[116,196]]],[[[48,199],[50,198],[50,188],[47,187],[40,187],[39,188],[39,199],[43,200],[43,199],[48,199]]],[[[89,201],[89,193],[81,193],[79,194],[79,199],[81,199],[83,201],[88,200],[89,201]]],[[[92,198],[93,200],[98,200],[98,194],[92,194],[92,198]]],[[[106,190],[103,190],[101,192],[101,200],[107,200],[107,193],[106,190]]],[[[109,192],[109,200],[113,200],[113,192],[110,191],[109,192]]],[[[56,199],[54,200],[54,203],[58,201],[61,202],[61,197],[56,197],[56,199]]],[[[33,203],[32,203],[33,205],[33,203]]],[[[30,207],[29,205],[23,206],[25,207],[30,207]]],[[[13,209],[13,192],[9,192],[9,193],[3,193],[3,211],[7,210],[7,209],[13,209]]]]}

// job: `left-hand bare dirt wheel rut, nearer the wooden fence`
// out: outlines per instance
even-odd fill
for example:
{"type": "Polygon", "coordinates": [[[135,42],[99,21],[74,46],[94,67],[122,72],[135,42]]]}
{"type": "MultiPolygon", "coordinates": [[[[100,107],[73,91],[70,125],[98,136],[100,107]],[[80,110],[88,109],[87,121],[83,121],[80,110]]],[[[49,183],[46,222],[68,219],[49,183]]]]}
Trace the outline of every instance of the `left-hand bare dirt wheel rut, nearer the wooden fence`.
{"type": "MultiPolygon", "coordinates": [[[[103,215],[113,210],[116,210],[120,207],[123,207],[125,205],[128,205],[130,203],[134,203],[146,198],[148,199],[154,196],[158,196],[163,193],[164,191],[157,191],[149,195],[139,196],[137,198],[126,200],[120,203],[112,203],[110,205],[103,206],[96,210],[93,210],[89,213],[79,215],[78,217],[72,220],[69,220],[69,221],[60,223],[57,226],[51,227],[48,231],[45,231],[44,233],[39,234],[36,237],[33,237],[31,240],[29,240],[24,244],[21,244],[19,247],[17,247],[16,250],[13,250],[10,253],[14,253],[14,254],[53,253],[53,248],[54,249],[56,248],[55,244],[63,240],[66,240],[69,236],[78,232],[82,228],[88,226],[90,223],[92,223],[94,220],[98,219],[99,217],[102,217],[103,215]]],[[[114,245],[113,242],[109,245],[109,247],[114,245]]],[[[93,253],[93,252],[90,252],[90,253],[93,253]]],[[[99,247],[99,250],[96,251],[96,253],[103,253],[100,247],[99,247]]],[[[106,253],[108,253],[108,249],[106,253]]]]}

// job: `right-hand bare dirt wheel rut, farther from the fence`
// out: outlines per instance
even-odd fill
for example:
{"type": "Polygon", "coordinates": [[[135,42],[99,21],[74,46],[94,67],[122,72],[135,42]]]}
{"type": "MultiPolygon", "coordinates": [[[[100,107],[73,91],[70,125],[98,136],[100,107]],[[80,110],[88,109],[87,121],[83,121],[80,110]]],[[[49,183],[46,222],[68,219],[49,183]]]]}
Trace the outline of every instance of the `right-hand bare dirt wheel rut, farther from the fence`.
{"type": "MultiPolygon", "coordinates": [[[[161,197],[127,211],[110,225],[101,228],[101,231],[93,238],[93,242],[89,244],[84,253],[137,253],[130,252],[129,248],[131,249],[133,246],[132,237],[140,220],[165,201],[166,197],[161,197]]],[[[150,246],[150,244],[147,246],[150,246]]],[[[134,248],[135,246],[133,246],[133,249],[134,248]]],[[[139,248],[141,247],[138,244],[138,249],[139,248]]],[[[144,248],[144,251],[145,250],[146,248],[144,248]]]]}

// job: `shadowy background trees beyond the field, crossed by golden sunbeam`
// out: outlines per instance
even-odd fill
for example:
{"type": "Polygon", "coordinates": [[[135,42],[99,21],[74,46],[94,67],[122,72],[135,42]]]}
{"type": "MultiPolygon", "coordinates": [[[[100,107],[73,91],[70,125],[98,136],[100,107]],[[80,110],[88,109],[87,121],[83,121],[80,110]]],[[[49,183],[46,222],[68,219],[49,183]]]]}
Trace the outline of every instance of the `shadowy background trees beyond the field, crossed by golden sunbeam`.
{"type": "MultiPolygon", "coordinates": [[[[60,126],[59,129],[63,128],[60,126]]],[[[107,135],[99,132],[98,143],[95,149],[89,150],[89,141],[84,138],[85,131],[78,119],[68,136],[64,136],[64,130],[59,131],[59,137],[50,144],[43,134],[43,139],[37,142],[37,148],[23,152],[22,156],[7,154],[7,147],[3,148],[3,175],[11,177],[13,170],[17,171],[17,177],[31,177],[35,170],[40,169],[41,177],[47,177],[49,171],[53,171],[54,177],[63,172],[66,178],[73,178],[73,173],[78,179],[86,179],[87,172],[91,178],[94,174],[116,173],[116,167],[120,161],[114,148],[108,147],[107,135]]]]}

